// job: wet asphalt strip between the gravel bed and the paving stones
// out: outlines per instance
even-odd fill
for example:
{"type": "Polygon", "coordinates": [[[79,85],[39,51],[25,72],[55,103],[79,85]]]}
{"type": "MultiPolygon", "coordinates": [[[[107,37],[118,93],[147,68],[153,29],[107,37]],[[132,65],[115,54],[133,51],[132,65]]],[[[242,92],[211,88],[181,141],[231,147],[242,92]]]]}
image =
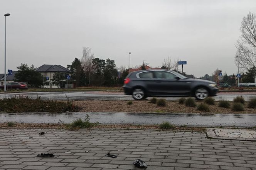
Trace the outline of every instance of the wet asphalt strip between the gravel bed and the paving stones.
{"type": "MultiPolygon", "coordinates": [[[[87,113],[90,122],[102,124],[159,124],[168,121],[173,125],[254,127],[256,114],[191,114],[191,113],[87,113]]],[[[0,123],[71,123],[85,118],[86,113],[0,113],[0,123]]]]}

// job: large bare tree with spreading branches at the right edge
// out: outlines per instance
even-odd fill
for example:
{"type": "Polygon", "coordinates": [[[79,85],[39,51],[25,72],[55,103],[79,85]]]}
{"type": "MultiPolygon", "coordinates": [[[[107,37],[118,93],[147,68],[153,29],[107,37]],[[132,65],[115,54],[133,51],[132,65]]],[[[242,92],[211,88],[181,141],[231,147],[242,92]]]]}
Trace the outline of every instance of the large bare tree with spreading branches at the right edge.
{"type": "Polygon", "coordinates": [[[248,71],[256,67],[256,15],[249,12],[241,23],[241,40],[236,42],[236,65],[248,71]]]}

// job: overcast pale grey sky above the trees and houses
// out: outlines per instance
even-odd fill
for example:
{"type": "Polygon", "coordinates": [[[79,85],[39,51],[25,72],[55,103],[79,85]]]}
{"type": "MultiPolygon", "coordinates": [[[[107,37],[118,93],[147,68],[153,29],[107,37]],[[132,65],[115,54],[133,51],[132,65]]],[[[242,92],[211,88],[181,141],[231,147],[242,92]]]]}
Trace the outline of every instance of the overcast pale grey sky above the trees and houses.
{"type": "MultiPolygon", "coordinates": [[[[242,18],[256,13],[256,0],[0,0],[0,73],[4,73],[4,14],[7,69],[21,63],[66,67],[94,57],[128,68],[143,60],[161,67],[170,56],[187,61],[196,77],[219,68],[237,73],[236,40],[242,18]]],[[[181,67],[180,67],[181,69],[181,67]]]]}

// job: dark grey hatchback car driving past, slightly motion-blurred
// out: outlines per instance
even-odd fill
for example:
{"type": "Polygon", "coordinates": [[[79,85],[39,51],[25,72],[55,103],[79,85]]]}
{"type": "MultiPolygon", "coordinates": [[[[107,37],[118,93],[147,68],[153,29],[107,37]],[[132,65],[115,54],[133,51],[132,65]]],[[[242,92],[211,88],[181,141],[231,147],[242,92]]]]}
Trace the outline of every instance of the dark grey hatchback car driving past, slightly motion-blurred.
{"type": "Polygon", "coordinates": [[[216,83],[208,80],[187,78],[170,70],[140,70],[131,72],[123,85],[126,95],[135,100],[150,96],[156,97],[188,97],[203,100],[208,96],[216,96],[216,83]]]}

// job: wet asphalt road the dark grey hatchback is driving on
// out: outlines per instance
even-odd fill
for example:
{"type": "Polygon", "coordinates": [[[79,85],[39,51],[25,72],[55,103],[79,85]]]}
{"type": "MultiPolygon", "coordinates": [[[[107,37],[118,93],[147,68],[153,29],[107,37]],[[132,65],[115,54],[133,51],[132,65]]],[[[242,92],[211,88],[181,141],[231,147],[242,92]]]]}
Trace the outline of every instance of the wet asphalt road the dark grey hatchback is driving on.
{"type": "MultiPolygon", "coordinates": [[[[24,92],[24,93],[0,93],[0,98],[11,98],[11,97],[40,97],[42,100],[67,100],[66,95],[71,100],[133,100],[131,96],[124,95],[122,93],[109,93],[104,92],[24,92]]],[[[255,98],[256,93],[219,93],[215,98],[218,100],[232,101],[233,98],[243,95],[245,100],[249,98],[255,98]]],[[[167,101],[175,101],[177,97],[165,97],[167,101]]]]}

